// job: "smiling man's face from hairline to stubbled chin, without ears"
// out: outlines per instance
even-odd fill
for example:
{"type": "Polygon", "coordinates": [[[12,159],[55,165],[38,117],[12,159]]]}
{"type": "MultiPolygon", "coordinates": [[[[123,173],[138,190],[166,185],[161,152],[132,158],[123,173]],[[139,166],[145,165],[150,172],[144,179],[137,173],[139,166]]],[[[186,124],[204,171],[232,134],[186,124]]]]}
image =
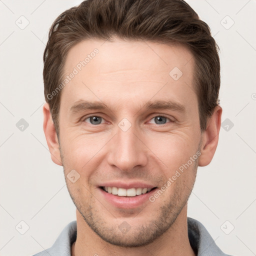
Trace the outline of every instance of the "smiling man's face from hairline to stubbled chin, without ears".
{"type": "Polygon", "coordinates": [[[103,42],[84,40],[68,52],[64,74],[74,67],[78,73],[61,94],[61,160],[71,198],[91,229],[112,244],[139,246],[186,210],[194,184],[201,140],[194,63],[180,45],[103,42]],[[94,48],[98,53],[90,54],[94,48]],[[75,182],[67,178],[71,170],[75,182]]]}

